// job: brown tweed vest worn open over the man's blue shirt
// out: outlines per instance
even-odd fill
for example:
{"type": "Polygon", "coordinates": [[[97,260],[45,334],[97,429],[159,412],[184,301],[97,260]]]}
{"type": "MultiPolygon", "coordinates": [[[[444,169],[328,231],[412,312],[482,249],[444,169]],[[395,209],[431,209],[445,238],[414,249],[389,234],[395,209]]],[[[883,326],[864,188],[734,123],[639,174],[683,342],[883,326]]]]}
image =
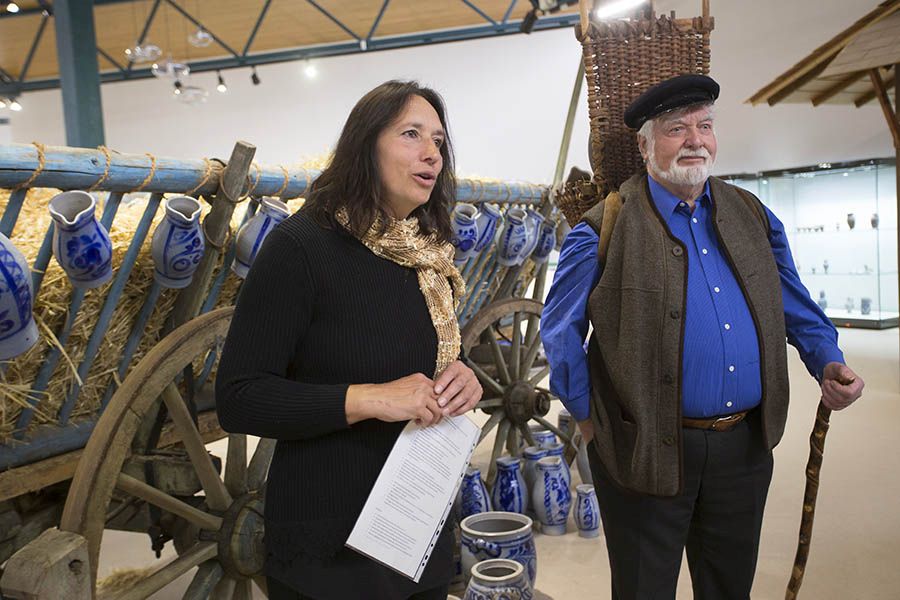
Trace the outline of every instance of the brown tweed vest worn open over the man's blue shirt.
{"type": "MultiPolygon", "coordinates": [[[[784,433],[787,349],[781,282],[759,200],[709,179],[714,229],[756,325],[765,444],[784,433]]],[[[622,184],[623,206],[603,274],[588,300],[595,447],[623,488],[673,496],[682,489],[681,370],[687,253],[650,197],[647,176],[622,184]]],[[[584,220],[599,231],[601,202],[584,220]]]]}

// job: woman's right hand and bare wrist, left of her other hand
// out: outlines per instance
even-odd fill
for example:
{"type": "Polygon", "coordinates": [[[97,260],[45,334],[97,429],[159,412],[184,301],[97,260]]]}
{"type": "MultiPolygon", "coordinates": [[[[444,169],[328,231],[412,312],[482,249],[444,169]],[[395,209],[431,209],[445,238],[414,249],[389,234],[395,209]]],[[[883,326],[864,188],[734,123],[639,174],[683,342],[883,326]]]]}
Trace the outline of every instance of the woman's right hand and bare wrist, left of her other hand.
{"type": "Polygon", "coordinates": [[[422,373],[388,383],[351,385],[347,388],[347,423],[378,419],[434,425],[441,420],[441,409],[433,388],[434,382],[422,373]]]}

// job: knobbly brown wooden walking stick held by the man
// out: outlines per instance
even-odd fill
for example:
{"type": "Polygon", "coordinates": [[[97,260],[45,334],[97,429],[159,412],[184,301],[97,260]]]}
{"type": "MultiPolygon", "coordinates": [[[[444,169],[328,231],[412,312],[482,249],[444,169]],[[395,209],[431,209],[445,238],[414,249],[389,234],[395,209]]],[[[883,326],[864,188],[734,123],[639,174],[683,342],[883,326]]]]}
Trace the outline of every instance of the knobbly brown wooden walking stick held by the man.
{"type": "MultiPolygon", "coordinates": [[[[838,379],[841,385],[850,385],[853,379],[838,379]]],[[[816,516],[816,496],[819,494],[819,473],[822,470],[822,457],[825,453],[825,435],[828,433],[828,421],[831,409],[820,400],[816,411],[816,424],[809,436],[809,460],[806,462],[806,491],[803,493],[803,515],[800,518],[800,539],[797,542],[797,555],[794,557],[794,568],[791,569],[791,580],[788,582],[785,600],[795,600],[803,583],[806,572],[806,559],[809,558],[809,543],[812,539],[813,519],[816,516]]]]}

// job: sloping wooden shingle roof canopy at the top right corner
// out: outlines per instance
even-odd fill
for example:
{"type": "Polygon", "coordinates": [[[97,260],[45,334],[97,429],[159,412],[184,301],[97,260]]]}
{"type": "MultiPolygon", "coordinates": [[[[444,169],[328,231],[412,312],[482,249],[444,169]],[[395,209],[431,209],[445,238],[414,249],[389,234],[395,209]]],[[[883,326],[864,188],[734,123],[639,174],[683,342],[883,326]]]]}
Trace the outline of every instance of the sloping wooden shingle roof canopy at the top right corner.
{"type": "Polygon", "coordinates": [[[879,82],[893,94],[896,64],[900,63],[900,0],[886,0],[850,27],[819,46],[779,75],[747,102],[774,106],[780,102],[852,104],[876,99],[879,82]]]}

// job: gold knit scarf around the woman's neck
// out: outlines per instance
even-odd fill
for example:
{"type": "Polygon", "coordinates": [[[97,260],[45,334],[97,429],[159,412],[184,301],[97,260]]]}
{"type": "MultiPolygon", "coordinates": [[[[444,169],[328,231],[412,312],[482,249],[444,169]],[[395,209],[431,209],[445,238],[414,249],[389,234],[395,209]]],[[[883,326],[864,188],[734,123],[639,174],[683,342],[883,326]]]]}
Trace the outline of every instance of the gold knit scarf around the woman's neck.
{"type": "MultiPolygon", "coordinates": [[[[350,219],[345,209],[337,212],[337,220],[347,227],[350,219]]],[[[416,270],[419,289],[425,296],[425,305],[438,338],[434,371],[434,378],[437,379],[459,356],[456,306],[465,293],[466,284],[453,265],[453,246],[438,241],[434,233],[422,235],[416,217],[402,221],[390,219],[387,229],[381,234],[383,222],[380,216],[376,217],[359,241],[376,256],[416,270]]]]}

